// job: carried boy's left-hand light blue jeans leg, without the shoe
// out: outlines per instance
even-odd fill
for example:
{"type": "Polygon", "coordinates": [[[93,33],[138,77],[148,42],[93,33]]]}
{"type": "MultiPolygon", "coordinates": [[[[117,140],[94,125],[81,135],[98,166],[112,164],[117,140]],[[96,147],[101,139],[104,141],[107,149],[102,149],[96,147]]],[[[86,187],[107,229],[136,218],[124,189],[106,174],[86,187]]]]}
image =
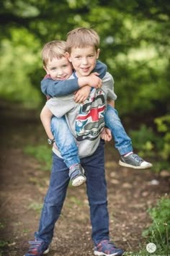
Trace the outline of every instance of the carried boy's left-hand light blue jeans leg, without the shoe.
{"type": "Polygon", "coordinates": [[[66,166],[69,168],[75,163],[80,163],[76,141],[68,127],[65,116],[61,118],[53,116],[51,119],[51,132],[53,132],[55,143],[66,166]]]}

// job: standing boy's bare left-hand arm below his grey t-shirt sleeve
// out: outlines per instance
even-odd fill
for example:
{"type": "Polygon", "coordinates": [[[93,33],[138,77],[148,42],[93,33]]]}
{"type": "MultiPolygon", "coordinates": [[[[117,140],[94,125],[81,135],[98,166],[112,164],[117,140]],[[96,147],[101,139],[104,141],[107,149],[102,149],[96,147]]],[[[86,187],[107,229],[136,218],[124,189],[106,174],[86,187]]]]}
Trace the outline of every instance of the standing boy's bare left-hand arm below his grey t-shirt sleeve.
{"type": "Polygon", "coordinates": [[[53,133],[51,132],[51,129],[50,129],[50,120],[52,116],[53,114],[51,113],[51,111],[47,108],[47,106],[44,106],[40,113],[40,119],[42,121],[45,132],[48,135],[48,138],[51,140],[53,140],[54,138],[53,133]]]}

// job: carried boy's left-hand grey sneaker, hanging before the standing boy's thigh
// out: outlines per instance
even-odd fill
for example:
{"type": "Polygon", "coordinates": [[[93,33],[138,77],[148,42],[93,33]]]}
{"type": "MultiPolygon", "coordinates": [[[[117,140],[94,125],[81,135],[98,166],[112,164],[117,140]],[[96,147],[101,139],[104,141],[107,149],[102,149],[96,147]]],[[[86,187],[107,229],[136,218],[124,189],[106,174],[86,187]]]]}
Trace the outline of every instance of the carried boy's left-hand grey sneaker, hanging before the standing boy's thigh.
{"type": "Polygon", "coordinates": [[[69,176],[73,187],[79,187],[86,182],[86,176],[84,176],[84,168],[77,163],[73,168],[69,170],[69,176]]]}

